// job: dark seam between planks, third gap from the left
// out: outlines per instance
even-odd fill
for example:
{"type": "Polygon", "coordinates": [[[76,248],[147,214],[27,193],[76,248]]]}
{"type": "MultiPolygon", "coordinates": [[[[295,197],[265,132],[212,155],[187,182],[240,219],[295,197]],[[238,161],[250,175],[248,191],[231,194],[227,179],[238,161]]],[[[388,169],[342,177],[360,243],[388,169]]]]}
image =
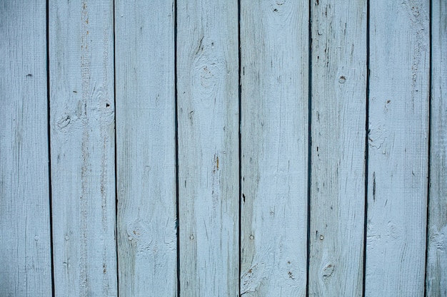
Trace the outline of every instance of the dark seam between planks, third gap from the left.
{"type": "Polygon", "coordinates": [[[174,125],[176,138],[177,297],[180,297],[179,111],[177,90],[177,0],[174,0],[174,125]]]}

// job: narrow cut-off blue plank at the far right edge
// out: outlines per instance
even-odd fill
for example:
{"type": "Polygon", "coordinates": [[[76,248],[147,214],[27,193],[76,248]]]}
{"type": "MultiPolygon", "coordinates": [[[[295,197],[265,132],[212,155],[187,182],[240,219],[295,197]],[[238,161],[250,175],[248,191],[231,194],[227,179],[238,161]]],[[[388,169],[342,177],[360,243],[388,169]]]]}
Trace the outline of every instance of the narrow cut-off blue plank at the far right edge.
{"type": "Polygon", "coordinates": [[[447,2],[432,1],[426,296],[447,296],[447,2]]]}

